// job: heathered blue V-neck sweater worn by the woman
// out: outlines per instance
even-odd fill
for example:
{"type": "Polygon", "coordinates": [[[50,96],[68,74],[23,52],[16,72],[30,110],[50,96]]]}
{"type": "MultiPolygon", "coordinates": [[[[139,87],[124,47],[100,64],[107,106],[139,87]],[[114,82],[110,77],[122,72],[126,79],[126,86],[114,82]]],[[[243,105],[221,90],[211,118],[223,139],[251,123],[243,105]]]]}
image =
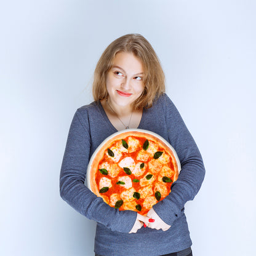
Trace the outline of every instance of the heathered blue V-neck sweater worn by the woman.
{"type": "Polygon", "coordinates": [[[89,159],[100,143],[117,130],[100,103],[82,106],[74,114],[60,172],[60,195],[75,210],[97,222],[95,253],[105,256],[157,256],[191,246],[184,205],[193,200],[204,179],[198,147],[170,98],[164,94],[143,110],[139,129],[161,135],[175,148],[182,170],[171,193],[153,206],[169,230],[141,228],[129,234],[137,213],[114,209],[85,185],[89,159]]]}

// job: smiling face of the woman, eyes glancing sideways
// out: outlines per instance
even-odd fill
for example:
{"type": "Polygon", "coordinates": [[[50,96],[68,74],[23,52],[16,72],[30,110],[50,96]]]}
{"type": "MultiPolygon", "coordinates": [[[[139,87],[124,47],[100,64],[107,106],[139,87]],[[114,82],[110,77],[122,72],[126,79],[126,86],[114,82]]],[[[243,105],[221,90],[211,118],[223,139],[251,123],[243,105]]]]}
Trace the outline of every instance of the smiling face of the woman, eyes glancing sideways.
{"type": "Polygon", "coordinates": [[[113,106],[131,106],[142,94],[143,65],[132,53],[119,52],[106,76],[108,101],[113,106]]]}

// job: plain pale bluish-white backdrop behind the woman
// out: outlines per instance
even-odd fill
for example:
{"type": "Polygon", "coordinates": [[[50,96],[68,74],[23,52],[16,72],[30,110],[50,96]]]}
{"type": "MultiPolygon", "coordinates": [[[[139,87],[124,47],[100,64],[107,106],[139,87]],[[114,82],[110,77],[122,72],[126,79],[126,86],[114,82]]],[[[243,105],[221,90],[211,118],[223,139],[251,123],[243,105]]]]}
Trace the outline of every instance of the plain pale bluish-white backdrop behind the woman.
{"type": "Polygon", "coordinates": [[[94,255],[59,196],[76,108],[111,41],[141,33],[206,166],[186,204],[194,256],[255,255],[254,0],[1,1],[0,255],[94,255]]]}

